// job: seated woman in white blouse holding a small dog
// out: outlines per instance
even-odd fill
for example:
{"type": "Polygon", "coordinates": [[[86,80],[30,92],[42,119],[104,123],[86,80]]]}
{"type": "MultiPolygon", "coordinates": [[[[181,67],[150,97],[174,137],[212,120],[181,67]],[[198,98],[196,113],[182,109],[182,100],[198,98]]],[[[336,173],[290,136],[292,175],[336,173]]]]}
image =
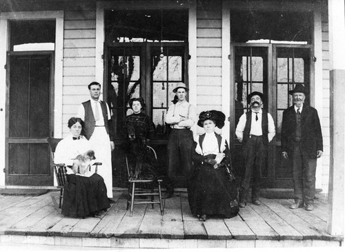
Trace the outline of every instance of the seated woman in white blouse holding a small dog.
{"type": "Polygon", "coordinates": [[[63,138],[55,149],[54,162],[65,164],[67,174],[61,213],[77,218],[100,217],[99,212],[106,211],[110,204],[103,178],[90,172],[89,165],[95,156],[90,151],[88,140],[83,137],[83,125],[81,118],[70,118],[70,135],[63,138]]]}

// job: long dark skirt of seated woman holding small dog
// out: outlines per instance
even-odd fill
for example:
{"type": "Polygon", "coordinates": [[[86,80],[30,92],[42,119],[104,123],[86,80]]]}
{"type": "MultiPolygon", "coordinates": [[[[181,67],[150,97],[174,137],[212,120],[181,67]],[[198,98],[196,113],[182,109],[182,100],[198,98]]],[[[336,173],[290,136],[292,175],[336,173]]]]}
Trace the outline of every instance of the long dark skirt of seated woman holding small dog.
{"type": "Polygon", "coordinates": [[[67,175],[63,187],[63,216],[85,217],[110,207],[106,185],[98,174],[83,177],[75,174],[67,175]]]}

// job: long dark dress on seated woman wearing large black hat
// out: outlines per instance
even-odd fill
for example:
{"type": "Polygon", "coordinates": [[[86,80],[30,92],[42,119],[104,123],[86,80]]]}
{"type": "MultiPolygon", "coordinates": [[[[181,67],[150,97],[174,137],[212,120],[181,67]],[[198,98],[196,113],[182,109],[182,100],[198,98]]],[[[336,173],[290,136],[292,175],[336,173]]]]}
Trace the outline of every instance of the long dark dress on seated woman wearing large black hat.
{"type": "MultiPolygon", "coordinates": [[[[202,148],[204,135],[199,136],[199,146],[202,148]]],[[[221,145],[221,136],[215,134],[217,142],[221,145]]],[[[226,142],[225,142],[226,143],[226,142]]],[[[225,144],[225,158],[222,164],[230,167],[230,151],[227,143],[225,144]]],[[[215,169],[213,165],[204,162],[206,158],[215,158],[215,154],[203,156],[198,154],[193,146],[193,175],[188,185],[188,201],[190,211],[195,216],[203,214],[219,215],[225,218],[232,218],[237,215],[239,207],[237,204],[237,188],[235,181],[230,181],[226,173],[225,166],[215,169]]]]}

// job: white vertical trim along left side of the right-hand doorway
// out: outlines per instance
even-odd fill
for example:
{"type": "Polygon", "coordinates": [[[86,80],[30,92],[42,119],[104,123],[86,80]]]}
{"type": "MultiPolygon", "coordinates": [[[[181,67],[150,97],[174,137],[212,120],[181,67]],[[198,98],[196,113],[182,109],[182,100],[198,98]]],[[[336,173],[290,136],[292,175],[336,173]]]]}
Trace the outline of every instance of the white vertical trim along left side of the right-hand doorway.
{"type": "Polygon", "coordinates": [[[226,116],[221,134],[230,143],[230,9],[223,7],[221,16],[221,110],[226,116]]]}

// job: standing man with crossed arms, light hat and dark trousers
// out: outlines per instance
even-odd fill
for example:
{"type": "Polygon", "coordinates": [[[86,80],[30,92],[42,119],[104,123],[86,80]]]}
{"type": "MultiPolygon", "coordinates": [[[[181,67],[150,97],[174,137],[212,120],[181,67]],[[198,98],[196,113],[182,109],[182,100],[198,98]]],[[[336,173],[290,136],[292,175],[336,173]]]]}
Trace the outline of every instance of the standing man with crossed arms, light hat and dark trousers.
{"type": "Polygon", "coordinates": [[[190,130],[197,121],[197,109],[186,101],[188,88],[184,83],[178,83],[174,90],[175,98],[166,114],[166,123],[171,132],[168,139],[168,187],[166,198],[174,194],[177,182],[177,170],[182,167],[187,183],[192,171],[191,149],[193,132],[190,130]]]}

